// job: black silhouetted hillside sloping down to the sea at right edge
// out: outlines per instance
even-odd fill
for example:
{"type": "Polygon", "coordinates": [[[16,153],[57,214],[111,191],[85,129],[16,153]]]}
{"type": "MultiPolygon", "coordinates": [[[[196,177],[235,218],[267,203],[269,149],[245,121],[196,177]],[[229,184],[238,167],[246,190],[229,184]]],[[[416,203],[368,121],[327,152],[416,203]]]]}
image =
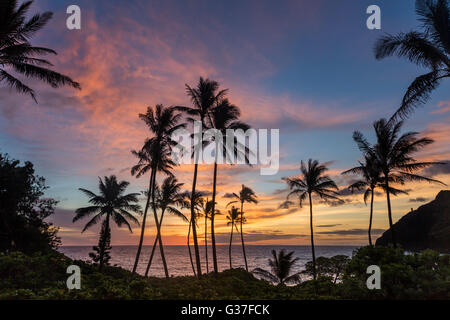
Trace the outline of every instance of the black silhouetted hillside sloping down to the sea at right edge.
{"type": "MultiPolygon", "coordinates": [[[[403,216],[393,225],[396,240],[406,250],[433,249],[450,252],[450,190],[403,216]]],[[[377,239],[377,245],[391,242],[390,229],[377,239]]]]}

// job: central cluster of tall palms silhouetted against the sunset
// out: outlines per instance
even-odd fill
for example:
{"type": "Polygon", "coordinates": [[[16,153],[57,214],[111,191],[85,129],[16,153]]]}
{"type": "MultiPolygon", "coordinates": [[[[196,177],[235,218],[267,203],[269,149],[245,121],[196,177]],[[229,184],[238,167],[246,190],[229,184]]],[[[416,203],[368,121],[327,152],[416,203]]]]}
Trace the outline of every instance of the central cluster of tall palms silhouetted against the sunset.
{"type": "MultiPolygon", "coordinates": [[[[164,246],[162,242],[161,236],[161,225],[162,218],[164,215],[164,211],[169,210],[170,212],[176,214],[177,216],[183,218],[186,221],[189,221],[189,229],[188,229],[188,249],[191,264],[193,266],[193,272],[197,276],[201,276],[202,267],[201,267],[201,257],[199,250],[199,240],[198,240],[198,219],[202,216],[205,217],[205,259],[206,259],[206,271],[209,272],[209,262],[208,262],[208,228],[207,222],[208,220],[211,223],[211,248],[213,254],[213,269],[214,272],[218,272],[217,265],[217,250],[216,250],[216,240],[215,240],[215,216],[220,214],[220,211],[216,208],[216,197],[217,197],[217,171],[218,171],[218,150],[221,149],[223,152],[232,153],[235,156],[241,156],[247,158],[248,151],[247,149],[243,149],[244,151],[240,151],[238,145],[234,150],[229,150],[226,145],[223,143],[221,139],[215,139],[215,137],[204,137],[203,132],[208,129],[216,129],[221,133],[225,134],[228,129],[242,129],[247,130],[249,126],[241,121],[239,121],[240,110],[235,105],[231,104],[230,101],[226,98],[228,90],[220,90],[219,84],[216,81],[210,79],[200,78],[196,87],[191,87],[186,85],[186,93],[192,102],[191,107],[186,106],[171,106],[164,107],[162,105],[157,105],[155,108],[149,107],[145,114],[140,114],[139,117],[147,124],[150,129],[151,138],[148,138],[143,147],[140,150],[132,151],[132,153],[138,158],[138,163],[132,168],[132,175],[136,175],[136,177],[141,177],[147,173],[150,173],[149,179],[149,188],[145,192],[147,196],[146,206],[143,212],[143,219],[141,224],[141,235],[138,244],[136,259],[133,267],[133,272],[136,272],[140,255],[142,251],[143,239],[145,234],[146,227],[146,218],[149,209],[152,209],[154,221],[156,225],[156,240],[154,243],[154,248],[156,246],[156,242],[159,243],[159,251],[161,254],[161,259],[163,261],[164,271],[166,277],[169,276],[167,263],[164,255],[164,246]],[[194,158],[194,176],[192,182],[192,189],[190,192],[181,192],[182,184],[179,184],[177,180],[174,178],[173,170],[176,166],[174,161],[171,158],[172,149],[175,146],[175,142],[171,139],[172,133],[180,128],[185,128],[190,123],[194,121],[200,121],[202,124],[202,138],[198,143],[194,146],[194,152],[192,157],[194,158]],[[208,144],[214,144],[216,150],[216,159],[214,161],[214,171],[213,171],[213,191],[212,191],[212,200],[204,198],[204,193],[199,192],[197,190],[197,176],[198,176],[198,166],[199,166],[199,150],[201,147],[204,147],[208,144]],[[158,198],[163,198],[162,195],[158,196],[158,186],[156,184],[157,181],[157,173],[161,172],[167,175],[169,180],[165,180],[161,190],[164,193],[165,188],[172,188],[167,196],[166,202],[164,204],[160,204],[158,198]],[[169,188],[169,186],[171,186],[169,188]],[[168,206],[168,204],[173,206],[168,206]],[[181,209],[189,208],[190,209],[190,217],[186,218],[182,213],[181,209]],[[160,216],[158,217],[157,210],[160,211],[160,216]],[[194,244],[194,259],[192,258],[192,252],[190,247],[190,238],[192,233],[192,239],[194,244]]],[[[241,211],[239,212],[241,220],[243,221],[243,203],[253,202],[256,203],[254,192],[248,188],[243,186],[241,190],[242,200],[241,203],[241,211]]],[[[240,196],[236,195],[238,199],[240,196]]],[[[241,223],[241,241],[244,252],[244,260],[245,265],[247,267],[247,261],[245,256],[245,245],[244,245],[244,236],[242,231],[242,223],[241,223]]],[[[147,271],[150,268],[151,261],[153,258],[154,250],[152,250],[152,254],[150,256],[149,263],[147,265],[147,271]]]]}

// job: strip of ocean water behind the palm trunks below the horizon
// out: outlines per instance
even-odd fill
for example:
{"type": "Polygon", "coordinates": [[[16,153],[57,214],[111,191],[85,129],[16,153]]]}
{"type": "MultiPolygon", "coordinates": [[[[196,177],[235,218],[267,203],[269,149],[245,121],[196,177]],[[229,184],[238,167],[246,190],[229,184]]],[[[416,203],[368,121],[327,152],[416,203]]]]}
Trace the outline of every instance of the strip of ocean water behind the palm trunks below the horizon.
{"type": "MultiPolygon", "coordinates": [[[[294,257],[299,258],[295,265],[294,272],[304,270],[305,264],[311,261],[311,247],[310,246],[246,246],[247,261],[249,270],[254,268],[269,269],[268,259],[272,257],[271,251],[286,249],[287,251],[294,251],[294,257]]],[[[352,252],[357,247],[352,246],[316,246],[316,257],[332,257],[338,254],[343,254],[351,257],[352,252]]],[[[194,248],[192,247],[192,254],[194,255],[194,248]]],[[[201,260],[203,271],[206,271],[205,248],[201,246],[201,260]]],[[[122,268],[131,270],[134,264],[137,246],[114,246],[111,250],[111,265],[118,265],[122,268]]],[[[144,246],[141,252],[140,264],[138,272],[144,274],[147,266],[148,258],[150,256],[152,247],[144,246]]],[[[89,260],[89,252],[92,251],[90,246],[67,246],[60,247],[59,251],[67,256],[78,260],[89,260]]],[[[170,275],[184,276],[192,275],[192,267],[189,260],[189,252],[187,246],[165,246],[164,252],[166,255],[167,265],[170,275]]],[[[218,265],[220,270],[229,269],[228,246],[217,246],[218,265]]],[[[239,245],[232,246],[233,268],[244,267],[242,247],[239,245]]],[[[209,271],[212,268],[212,252],[208,248],[209,271]]],[[[149,272],[150,276],[162,277],[164,276],[164,269],[161,263],[159,250],[155,251],[152,266],[149,272]]]]}

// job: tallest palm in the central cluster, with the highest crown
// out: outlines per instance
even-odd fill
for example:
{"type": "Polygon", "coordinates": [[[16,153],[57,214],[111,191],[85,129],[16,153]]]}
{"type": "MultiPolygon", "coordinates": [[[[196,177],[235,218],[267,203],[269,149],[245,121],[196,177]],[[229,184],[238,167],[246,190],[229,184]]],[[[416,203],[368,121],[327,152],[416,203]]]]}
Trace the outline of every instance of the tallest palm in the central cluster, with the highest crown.
{"type": "MultiPolygon", "coordinates": [[[[202,130],[205,131],[208,128],[212,127],[212,119],[211,119],[211,110],[220,101],[226,94],[227,90],[219,90],[219,84],[216,81],[210,79],[203,79],[200,77],[200,80],[197,84],[197,87],[192,88],[186,84],[186,93],[191,99],[192,107],[177,107],[178,110],[184,111],[189,115],[188,120],[195,121],[198,120],[202,124],[202,130]]],[[[203,134],[203,132],[202,132],[203,134]]],[[[199,141],[194,146],[194,178],[192,180],[192,191],[191,196],[194,197],[196,194],[196,185],[197,185],[197,173],[198,173],[198,162],[199,162],[199,150],[203,145],[203,141],[199,141]]],[[[191,204],[195,203],[191,199],[191,204]]],[[[195,208],[191,207],[191,225],[195,226],[196,222],[196,214],[195,208]]],[[[192,229],[192,234],[194,238],[194,250],[195,250],[195,260],[197,265],[197,274],[201,276],[202,268],[200,262],[200,251],[198,248],[198,240],[197,240],[197,230],[195,227],[192,229]]],[[[214,252],[213,252],[214,254],[214,252]]],[[[214,266],[216,271],[216,265],[214,266]]]]}

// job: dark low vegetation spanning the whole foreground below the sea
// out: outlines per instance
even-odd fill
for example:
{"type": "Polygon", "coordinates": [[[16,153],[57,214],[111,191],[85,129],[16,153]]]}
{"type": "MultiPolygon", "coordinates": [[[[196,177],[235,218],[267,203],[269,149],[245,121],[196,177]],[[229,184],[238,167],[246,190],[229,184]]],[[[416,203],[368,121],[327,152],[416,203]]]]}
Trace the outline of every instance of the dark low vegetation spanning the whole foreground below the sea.
{"type": "MultiPolygon", "coordinates": [[[[318,259],[319,260],[319,259],[318,259]]],[[[450,255],[405,255],[386,247],[358,249],[342,279],[319,273],[295,286],[273,285],[244,269],[189,277],[146,278],[119,267],[73,261],[55,251],[0,255],[0,299],[450,299],[450,255]],[[81,267],[81,289],[68,290],[66,269],[81,267]],[[382,270],[381,290],[368,290],[366,269],[382,270]]]]}

